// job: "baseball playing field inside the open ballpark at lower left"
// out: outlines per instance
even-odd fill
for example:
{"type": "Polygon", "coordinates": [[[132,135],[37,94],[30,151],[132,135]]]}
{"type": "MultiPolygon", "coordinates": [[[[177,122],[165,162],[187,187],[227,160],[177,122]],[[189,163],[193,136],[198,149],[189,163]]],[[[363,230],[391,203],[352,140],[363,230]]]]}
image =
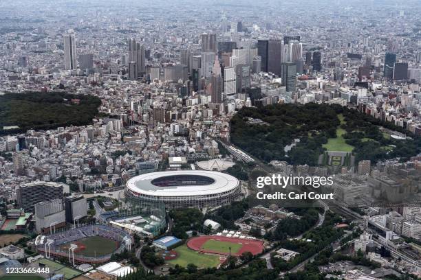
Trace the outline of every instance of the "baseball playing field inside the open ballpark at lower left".
{"type": "Polygon", "coordinates": [[[77,240],[76,242],[70,242],[61,246],[62,250],[67,250],[70,244],[76,244],[78,248],[74,250],[76,255],[83,255],[85,257],[99,257],[108,255],[117,250],[119,244],[114,240],[102,236],[90,236],[83,239],[77,240]]]}

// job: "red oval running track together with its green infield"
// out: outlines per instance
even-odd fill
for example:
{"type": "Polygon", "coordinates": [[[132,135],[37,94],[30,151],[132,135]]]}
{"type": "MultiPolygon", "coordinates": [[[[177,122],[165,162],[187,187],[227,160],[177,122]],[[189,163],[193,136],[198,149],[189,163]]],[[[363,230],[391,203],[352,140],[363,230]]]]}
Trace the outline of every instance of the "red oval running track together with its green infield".
{"type": "Polygon", "coordinates": [[[218,255],[228,255],[229,247],[231,247],[231,255],[235,256],[240,256],[245,252],[257,255],[263,251],[263,241],[261,240],[248,240],[217,235],[193,237],[188,240],[187,246],[192,250],[197,250],[202,253],[213,253],[218,255]]]}

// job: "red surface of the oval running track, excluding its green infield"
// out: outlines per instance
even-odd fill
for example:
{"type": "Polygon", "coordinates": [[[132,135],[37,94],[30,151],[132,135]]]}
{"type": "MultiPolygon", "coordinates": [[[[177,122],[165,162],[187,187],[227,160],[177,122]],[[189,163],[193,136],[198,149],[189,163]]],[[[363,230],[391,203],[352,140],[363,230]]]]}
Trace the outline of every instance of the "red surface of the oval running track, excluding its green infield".
{"type": "Polygon", "coordinates": [[[225,237],[217,235],[203,235],[193,237],[187,242],[188,248],[193,250],[205,252],[205,253],[214,253],[218,255],[228,255],[228,253],[222,253],[216,250],[204,250],[202,249],[203,244],[208,240],[217,240],[222,242],[232,242],[237,244],[242,244],[243,246],[239,249],[237,253],[232,253],[231,255],[240,256],[244,252],[250,252],[253,255],[257,255],[263,251],[263,241],[261,240],[248,240],[242,238],[234,237],[225,237]]]}

